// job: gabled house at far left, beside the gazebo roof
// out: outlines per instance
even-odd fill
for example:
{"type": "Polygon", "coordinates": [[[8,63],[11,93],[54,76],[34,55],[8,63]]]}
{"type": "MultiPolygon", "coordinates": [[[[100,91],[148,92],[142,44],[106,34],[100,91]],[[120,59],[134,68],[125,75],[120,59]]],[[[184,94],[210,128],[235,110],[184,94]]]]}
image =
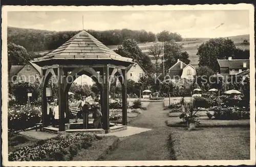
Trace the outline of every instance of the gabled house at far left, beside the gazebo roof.
{"type": "Polygon", "coordinates": [[[34,82],[41,78],[41,67],[28,62],[26,65],[12,65],[9,72],[9,82],[34,82]]]}

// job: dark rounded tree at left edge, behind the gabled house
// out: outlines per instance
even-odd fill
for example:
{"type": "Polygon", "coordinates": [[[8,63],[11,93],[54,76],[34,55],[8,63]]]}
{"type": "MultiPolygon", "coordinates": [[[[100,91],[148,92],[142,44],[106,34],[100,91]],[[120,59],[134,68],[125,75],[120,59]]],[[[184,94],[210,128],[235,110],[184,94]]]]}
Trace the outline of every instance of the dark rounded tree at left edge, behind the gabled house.
{"type": "Polygon", "coordinates": [[[9,43],[7,47],[9,70],[11,69],[12,65],[25,65],[30,60],[29,54],[23,46],[9,43]]]}

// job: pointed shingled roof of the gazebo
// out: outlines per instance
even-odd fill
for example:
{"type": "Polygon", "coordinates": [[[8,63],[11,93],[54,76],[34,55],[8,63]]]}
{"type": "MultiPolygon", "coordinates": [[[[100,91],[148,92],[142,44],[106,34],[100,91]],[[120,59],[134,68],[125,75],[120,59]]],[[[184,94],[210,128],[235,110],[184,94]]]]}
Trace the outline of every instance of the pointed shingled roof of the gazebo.
{"type": "Polygon", "coordinates": [[[42,61],[70,59],[132,62],[132,59],[118,55],[88,32],[81,31],[46,56],[34,59],[33,63],[40,64],[39,62],[42,61]]]}

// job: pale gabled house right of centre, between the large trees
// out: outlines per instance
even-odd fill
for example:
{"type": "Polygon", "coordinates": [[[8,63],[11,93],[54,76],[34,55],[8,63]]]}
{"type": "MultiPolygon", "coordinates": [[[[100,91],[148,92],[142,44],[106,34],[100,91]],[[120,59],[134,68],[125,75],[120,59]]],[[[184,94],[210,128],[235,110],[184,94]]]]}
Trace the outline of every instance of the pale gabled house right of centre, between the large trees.
{"type": "Polygon", "coordinates": [[[179,59],[168,69],[168,75],[173,82],[181,81],[182,79],[193,79],[196,74],[196,68],[193,65],[185,64],[179,59]]]}

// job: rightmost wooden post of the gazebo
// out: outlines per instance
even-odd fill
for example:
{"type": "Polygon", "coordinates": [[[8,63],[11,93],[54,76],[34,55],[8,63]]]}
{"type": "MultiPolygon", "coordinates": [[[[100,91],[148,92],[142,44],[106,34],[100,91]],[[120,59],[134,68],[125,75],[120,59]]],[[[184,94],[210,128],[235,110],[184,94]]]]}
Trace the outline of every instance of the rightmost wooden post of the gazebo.
{"type": "Polygon", "coordinates": [[[125,69],[122,69],[122,75],[122,124],[127,125],[127,82],[125,69]]]}

